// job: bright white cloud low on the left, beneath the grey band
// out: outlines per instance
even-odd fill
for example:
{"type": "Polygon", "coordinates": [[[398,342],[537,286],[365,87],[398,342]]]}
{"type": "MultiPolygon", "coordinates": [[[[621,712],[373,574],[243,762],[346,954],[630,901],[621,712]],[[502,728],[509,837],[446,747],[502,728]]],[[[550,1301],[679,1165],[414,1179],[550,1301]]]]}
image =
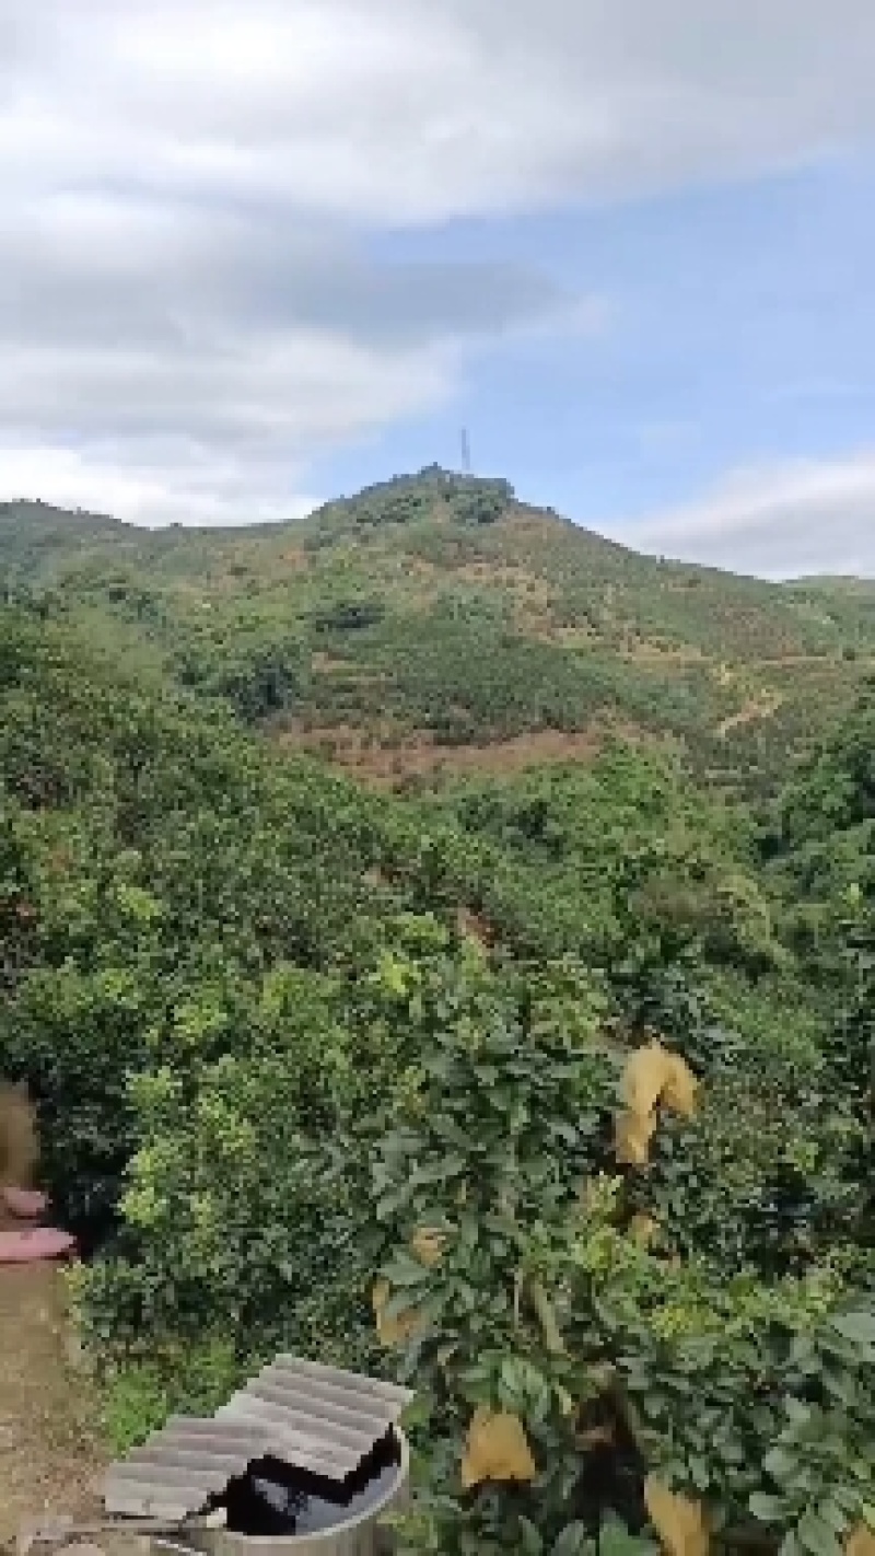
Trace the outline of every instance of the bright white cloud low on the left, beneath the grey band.
{"type": "Polygon", "coordinates": [[[0,492],[134,523],[306,512],[315,451],[449,392],[452,350],[295,331],[180,349],[22,349],[0,380],[0,492]],[[16,429],[19,437],[16,439],[16,429]]]}

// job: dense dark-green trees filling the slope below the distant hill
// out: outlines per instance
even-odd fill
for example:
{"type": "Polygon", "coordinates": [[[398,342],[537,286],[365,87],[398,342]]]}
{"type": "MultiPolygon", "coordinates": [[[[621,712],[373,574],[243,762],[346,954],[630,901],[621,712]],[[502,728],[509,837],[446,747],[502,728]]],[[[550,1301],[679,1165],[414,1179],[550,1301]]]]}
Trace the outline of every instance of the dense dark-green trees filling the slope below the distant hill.
{"type": "Polygon", "coordinates": [[[238,636],[173,672],[169,573],[0,612],[0,1072],[113,1439],[283,1344],[413,1382],[412,1551],[864,1551],[872,705],[757,809],[617,739],[376,794],[213,697],[238,636]]]}

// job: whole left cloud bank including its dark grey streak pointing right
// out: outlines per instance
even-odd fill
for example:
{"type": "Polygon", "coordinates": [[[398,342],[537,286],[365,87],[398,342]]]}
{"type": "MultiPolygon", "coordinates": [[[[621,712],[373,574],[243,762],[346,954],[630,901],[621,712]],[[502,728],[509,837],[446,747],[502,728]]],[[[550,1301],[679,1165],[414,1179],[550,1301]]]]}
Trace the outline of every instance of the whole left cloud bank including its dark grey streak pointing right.
{"type": "Polygon", "coordinates": [[[288,517],[312,459],[444,403],[502,331],[601,319],[510,265],[378,266],[278,212],[96,194],[6,212],[0,275],[0,496],[141,523],[288,517]]]}

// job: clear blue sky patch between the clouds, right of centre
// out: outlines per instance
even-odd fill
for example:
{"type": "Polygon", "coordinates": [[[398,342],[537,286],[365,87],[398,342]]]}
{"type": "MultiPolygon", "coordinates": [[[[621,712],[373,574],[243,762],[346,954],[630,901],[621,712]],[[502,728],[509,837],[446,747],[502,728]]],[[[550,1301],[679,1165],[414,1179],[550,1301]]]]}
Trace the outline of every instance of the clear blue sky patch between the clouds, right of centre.
{"type": "Polygon", "coordinates": [[[325,461],[329,490],[432,459],[457,464],[466,426],[476,470],[634,543],[654,512],[727,470],[841,462],[872,442],[875,166],[864,159],[629,205],[393,233],[379,252],[390,261],[513,254],[601,300],[605,316],[584,339],[496,342],[451,406],[325,461]]]}

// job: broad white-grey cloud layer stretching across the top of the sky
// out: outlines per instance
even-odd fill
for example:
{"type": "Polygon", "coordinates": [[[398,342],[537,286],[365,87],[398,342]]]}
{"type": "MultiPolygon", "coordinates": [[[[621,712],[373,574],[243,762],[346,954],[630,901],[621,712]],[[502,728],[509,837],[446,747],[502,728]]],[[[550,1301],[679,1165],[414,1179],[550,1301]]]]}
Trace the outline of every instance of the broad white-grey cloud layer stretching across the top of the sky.
{"type": "Polygon", "coordinates": [[[6,0],[0,168],[389,223],[869,137],[867,0],[6,0]]]}

